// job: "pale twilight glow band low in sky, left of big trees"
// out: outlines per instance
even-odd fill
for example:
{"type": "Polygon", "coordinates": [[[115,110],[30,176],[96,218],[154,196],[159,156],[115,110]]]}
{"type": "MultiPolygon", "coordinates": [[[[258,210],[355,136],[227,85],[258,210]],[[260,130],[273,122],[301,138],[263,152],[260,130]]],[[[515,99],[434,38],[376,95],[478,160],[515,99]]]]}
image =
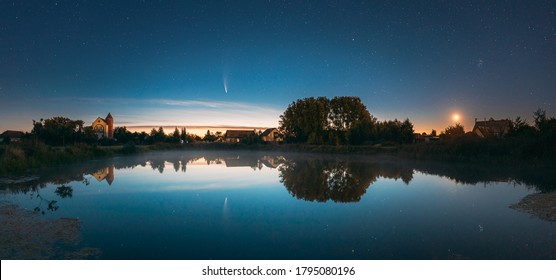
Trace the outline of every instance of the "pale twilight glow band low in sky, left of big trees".
{"type": "MultiPolygon", "coordinates": [[[[43,100],[37,100],[41,102],[43,100]]],[[[97,117],[104,118],[108,113],[114,117],[116,127],[150,128],[158,127],[198,127],[203,128],[269,128],[277,127],[282,113],[279,109],[267,104],[247,102],[229,102],[215,100],[177,100],[177,99],[133,99],[133,98],[74,98],[60,104],[56,99],[42,102],[40,110],[20,111],[29,120],[20,125],[5,126],[2,122],[0,130],[32,129],[32,120],[47,119],[56,116],[80,119],[85,124],[92,123],[97,117]],[[93,110],[90,104],[106,104],[101,111],[93,110]],[[79,108],[67,110],[63,107],[79,108]],[[82,108],[82,109],[81,109],[82,108]],[[66,112],[65,114],[57,112],[66,112]],[[247,125],[246,125],[247,124],[247,125]]],[[[33,102],[33,101],[30,101],[33,102]]],[[[96,108],[96,106],[94,106],[96,108]]],[[[173,131],[173,130],[172,130],[173,131]]],[[[206,132],[206,130],[205,130],[206,132]]],[[[204,134],[204,132],[203,132],[204,134]]]]}

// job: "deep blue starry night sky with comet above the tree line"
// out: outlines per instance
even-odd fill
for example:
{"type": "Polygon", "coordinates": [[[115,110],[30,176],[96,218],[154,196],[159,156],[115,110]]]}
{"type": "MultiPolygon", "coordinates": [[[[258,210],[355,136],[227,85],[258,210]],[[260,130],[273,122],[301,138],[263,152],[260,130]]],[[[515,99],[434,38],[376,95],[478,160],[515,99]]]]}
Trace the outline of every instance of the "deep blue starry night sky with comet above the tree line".
{"type": "Polygon", "coordinates": [[[556,2],[0,0],[0,131],[273,127],[344,95],[416,132],[554,116],[556,2]]]}

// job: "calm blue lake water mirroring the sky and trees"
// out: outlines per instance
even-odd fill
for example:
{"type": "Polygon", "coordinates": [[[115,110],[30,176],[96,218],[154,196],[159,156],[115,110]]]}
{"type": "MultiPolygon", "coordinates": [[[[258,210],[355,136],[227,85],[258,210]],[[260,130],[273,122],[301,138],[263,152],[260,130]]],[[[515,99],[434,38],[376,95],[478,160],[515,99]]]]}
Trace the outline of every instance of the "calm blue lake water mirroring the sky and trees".
{"type": "Polygon", "coordinates": [[[91,161],[0,181],[36,235],[24,249],[3,238],[3,258],[554,259],[556,223],[510,208],[552,178],[492,168],[229,151],[91,161]],[[60,220],[72,242],[41,240],[64,234],[42,228],[60,220]]]}

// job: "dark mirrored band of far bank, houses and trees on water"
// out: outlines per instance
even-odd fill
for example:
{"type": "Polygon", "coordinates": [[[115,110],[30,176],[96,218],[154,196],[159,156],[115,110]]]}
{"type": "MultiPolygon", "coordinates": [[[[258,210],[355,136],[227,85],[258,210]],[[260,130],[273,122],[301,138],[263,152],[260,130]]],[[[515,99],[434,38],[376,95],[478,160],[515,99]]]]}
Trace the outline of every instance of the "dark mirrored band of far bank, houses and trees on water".
{"type": "MultiPolygon", "coordinates": [[[[40,195],[39,190],[48,184],[58,185],[56,195],[71,198],[70,182],[89,185],[89,176],[98,182],[112,185],[117,170],[150,167],[162,174],[165,171],[187,172],[188,165],[220,165],[227,168],[249,167],[277,169],[280,182],[288,192],[306,201],[357,202],[379,178],[402,180],[410,184],[414,172],[419,171],[449,178],[458,183],[485,185],[489,182],[513,182],[535,187],[541,192],[555,189],[556,174],[551,171],[526,166],[471,165],[438,162],[411,162],[394,158],[317,156],[303,154],[262,154],[257,152],[188,151],[160,152],[130,157],[89,161],[83,164],[46,170],[39,176],[0,178],[0,189],[12,193],[31,193],[56,211],[56,200],[40,195]],[[60,171],[63,172],[60,172],[60,171]]],[[[187,180],[184,177],[184,180],[187,180]]],[[[41,212],[42,207],[39,207],[41,212]]]]}

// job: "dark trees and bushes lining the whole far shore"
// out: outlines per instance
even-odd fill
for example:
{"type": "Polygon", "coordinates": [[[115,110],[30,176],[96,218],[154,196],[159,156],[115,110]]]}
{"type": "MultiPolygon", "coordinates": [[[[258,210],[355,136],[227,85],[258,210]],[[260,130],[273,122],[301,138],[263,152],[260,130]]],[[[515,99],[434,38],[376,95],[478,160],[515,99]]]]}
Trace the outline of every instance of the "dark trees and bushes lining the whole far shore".
{"type": "MultiPolygon", "coordinates": [[[[439,135],[438,144],[412,145],[407,152],[416,157],[446,155],[455,158],[469,156],[512,158],[556,158],[556,118],[548,117],[544,110],[533,114],[529,124],[521,117],[509,120],[510,127],[502,137],[480,138],[466,132],[461,124],[447,127],[439,135]]],[[[311,145],[400,145],[415,142],[413,124],[404,121],[378,121],[358,97],[309,97],[292,102],[280,116],[279,130],[288,143],[311,145]]],[[[436,136],[435,131],[431,133],[436,136]]],[[[114,129],[114,139],[99,138],[91,126],[82,120],[66,117],[33,120],[33,128],[25,135],[49,146],[73,144],[89,145],[152,145],[156,143],[190,143],[196,141],[223,141],[222,133],[207,131],[203,138],[177,127],[166,134],[162,127],[150,133],[131,132],[125,126],[114,129]]],[[[253,135],[244,143],[261,143],[253,135]]],[[[9,139],[4,139],[9,141],[9,139]]],[[[35,142],[36,142],[35,141],[35,142]]],[[[408,146],[408,145],[405,145],[408,146]]],[[[133,146],[130,147],[133,150],[133,146]]]]}

